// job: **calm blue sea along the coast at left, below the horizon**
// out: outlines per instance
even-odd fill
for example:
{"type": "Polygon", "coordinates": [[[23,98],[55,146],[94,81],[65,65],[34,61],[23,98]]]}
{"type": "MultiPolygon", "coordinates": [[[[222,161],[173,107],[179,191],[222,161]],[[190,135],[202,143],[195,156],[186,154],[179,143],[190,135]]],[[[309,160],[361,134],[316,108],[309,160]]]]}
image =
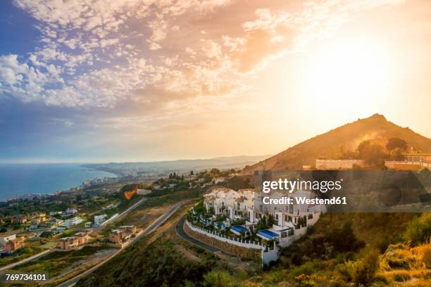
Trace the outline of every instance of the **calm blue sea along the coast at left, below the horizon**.
{"type": "Polygon", "coordinates": [[[87,179],[115,177],[80,164],[0,164],[0,201],[27,193],[54,193],[87,179]]]}

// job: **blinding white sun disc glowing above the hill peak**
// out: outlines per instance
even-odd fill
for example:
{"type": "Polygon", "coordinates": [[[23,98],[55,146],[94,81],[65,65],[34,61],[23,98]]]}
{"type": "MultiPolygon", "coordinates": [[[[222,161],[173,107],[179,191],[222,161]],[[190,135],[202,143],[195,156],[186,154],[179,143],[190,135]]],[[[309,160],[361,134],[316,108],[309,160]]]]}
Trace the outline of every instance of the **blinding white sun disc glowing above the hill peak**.
{"type": "MultiPolygon", "coordinates": [[[[320,107],[363,104],[382,98],[391,84],[388,46],[366,41],[340,41],[318,47],[307,59],[303,95],[320,107]]],[[[369,104],[369,103],[368,103],[369,104]]]]}

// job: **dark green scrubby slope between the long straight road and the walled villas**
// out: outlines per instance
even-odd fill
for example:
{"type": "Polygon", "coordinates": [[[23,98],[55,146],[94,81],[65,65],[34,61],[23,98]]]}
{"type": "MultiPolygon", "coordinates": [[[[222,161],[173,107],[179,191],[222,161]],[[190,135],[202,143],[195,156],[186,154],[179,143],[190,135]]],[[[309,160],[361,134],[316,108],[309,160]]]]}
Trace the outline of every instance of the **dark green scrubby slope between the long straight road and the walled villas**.
{"type": "Polygon", "coordinates": [[[204,255],[202,262],[186,260],[166,238],[149,245],[147,239],[139,239],[77,286],[181,286],[185,281],[201,281],[215,264],[212,255],[204,255]]]}

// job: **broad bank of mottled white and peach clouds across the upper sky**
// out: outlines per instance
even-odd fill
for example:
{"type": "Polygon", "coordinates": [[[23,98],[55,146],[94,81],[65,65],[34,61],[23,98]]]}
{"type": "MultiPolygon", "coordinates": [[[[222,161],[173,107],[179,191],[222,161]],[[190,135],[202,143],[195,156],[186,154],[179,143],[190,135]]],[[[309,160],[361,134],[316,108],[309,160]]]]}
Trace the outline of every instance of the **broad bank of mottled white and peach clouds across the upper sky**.
{"type": "Polygon", "coordinates": [[[229,0],[14,0],[41,37],[30,55],[0,56],[0,96],[79,108],[232,96],[269,60],[400,2],[316,1],[290,11],[251,1],[239,18],[229,0]]]}

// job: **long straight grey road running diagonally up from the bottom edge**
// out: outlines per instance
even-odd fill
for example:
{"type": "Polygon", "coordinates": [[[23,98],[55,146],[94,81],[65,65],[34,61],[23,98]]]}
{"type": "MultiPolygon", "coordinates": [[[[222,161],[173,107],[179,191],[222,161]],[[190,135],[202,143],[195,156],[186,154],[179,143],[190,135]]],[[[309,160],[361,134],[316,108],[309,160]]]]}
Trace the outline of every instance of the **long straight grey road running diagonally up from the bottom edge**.
{"type": "Polygon", "coordinates": [[[150,234],[151,232],[153,232],[154,230],[156,230],[158,227],[160,227],[163,223],[165,223],[166,220],[169,219],[169,217],[171,217],[177,210],[178,208],[180,208],[181,205],[183,205],[186,201],[183,201],[181,203],[176,203],[175,205],[173,205],[172,208],[170,208],[170,210],[168,210],[168,212],[165,212],[165,214],[161,215],[161,217],[158,217],[158,219],[156,219],[156,221],[154,221],[153,223],[151,223],[149,225],[149,227],[147,227],[142,234],[139,234],[139,236],[135,237],[132,239],[132,241],[129,241],[129,243],[127,243],[127,245],[124,245],[123,248],[120,248],[118,251],[116,251],[115,253],[113,253],[112,255],[110,255],[109,257],[107,257],[104,261],[100,262],[99,264],[94,265],[94,267],[88,269],[85,272],[82,272],[81,274],[78,274],[77,276],[73,277],[72,279],[69,279],[68,281],[65,281],[63,283],[58,284],[56,287],[69,287],[69,286],[74,286],[77,281],[79,281],[82,277],[84,276],[88,276],[89,274],[91,274],[92,272],[94,272],[94,270],[96,270],[97,268],[101,267],[101,265],[105,264],[106,262],[108,262],[109,260],[111,260],[115,255],[117,255],[118,253],[120,253],[122,250],[124,250],[128,245],[131,245],[132,243],[135,243],[137,241],[138,238],[141,238],[142,236],[146,236],[148,234],[150,234]]]}

